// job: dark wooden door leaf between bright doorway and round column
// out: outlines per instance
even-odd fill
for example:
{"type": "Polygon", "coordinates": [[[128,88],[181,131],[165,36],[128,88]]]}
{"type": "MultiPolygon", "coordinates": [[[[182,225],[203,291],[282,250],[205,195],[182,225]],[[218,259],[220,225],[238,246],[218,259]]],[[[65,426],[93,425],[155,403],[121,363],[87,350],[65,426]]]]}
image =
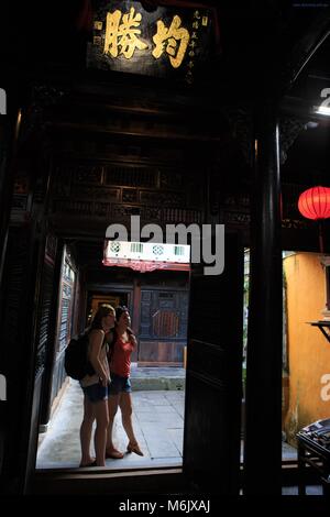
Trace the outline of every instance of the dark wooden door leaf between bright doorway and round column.
{"type": "Polygon", "coordinates": [[[199,491],[238,494],[242,399],[243,249],[226,235],[224,271],[190,280],[184,472],[199,491]]]}

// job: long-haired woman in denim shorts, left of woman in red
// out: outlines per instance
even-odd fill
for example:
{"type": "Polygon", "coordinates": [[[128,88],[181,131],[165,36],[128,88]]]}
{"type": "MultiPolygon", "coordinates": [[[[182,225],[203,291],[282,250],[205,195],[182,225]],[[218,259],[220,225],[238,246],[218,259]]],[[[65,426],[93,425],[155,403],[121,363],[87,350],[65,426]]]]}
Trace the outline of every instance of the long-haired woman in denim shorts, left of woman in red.
{"type": "Polygon", "coordinates": [[[94,373],[80,381],[84,391],[84,419],[80,426],[80,466],[105,466],[106,442],[109,426],[108,386],[110,372],[106,333],[114,326],[116,312],[111,305],[102,305],[97,310],[88,330],[88,360],[94,373]],[[96,420],[95,452],[90,457],[92,424],[96,420]]]}

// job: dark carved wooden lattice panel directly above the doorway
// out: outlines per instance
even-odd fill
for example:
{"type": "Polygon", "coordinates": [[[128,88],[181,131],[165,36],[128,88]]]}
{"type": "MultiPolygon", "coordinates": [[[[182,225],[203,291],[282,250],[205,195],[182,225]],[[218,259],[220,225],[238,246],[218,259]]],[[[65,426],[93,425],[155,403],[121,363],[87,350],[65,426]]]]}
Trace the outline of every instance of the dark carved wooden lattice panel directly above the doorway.
{"type": "Polygon", "coordinates": [[[61,164],[56,169],[51,211],[57,217],[106,221],[130,220],[201,223],[204,179],[185,170],[134,164],[61,164]]]}

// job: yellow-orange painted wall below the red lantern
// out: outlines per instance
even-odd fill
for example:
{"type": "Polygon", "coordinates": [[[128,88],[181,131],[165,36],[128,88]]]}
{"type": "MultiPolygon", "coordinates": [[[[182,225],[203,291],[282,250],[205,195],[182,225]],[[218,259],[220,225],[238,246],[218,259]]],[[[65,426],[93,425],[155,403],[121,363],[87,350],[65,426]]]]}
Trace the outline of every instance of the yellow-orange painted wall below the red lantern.
{"type": "Polygon", "coordinates": [[[330,417],[330,343],[317,327],[306,323],[323,319],[326,273],[320,256],[296,253],[284,260],[284,272],[289,365],[289,400],[284,427],[288,441],[294,442],[301,427],[330,417]]]}

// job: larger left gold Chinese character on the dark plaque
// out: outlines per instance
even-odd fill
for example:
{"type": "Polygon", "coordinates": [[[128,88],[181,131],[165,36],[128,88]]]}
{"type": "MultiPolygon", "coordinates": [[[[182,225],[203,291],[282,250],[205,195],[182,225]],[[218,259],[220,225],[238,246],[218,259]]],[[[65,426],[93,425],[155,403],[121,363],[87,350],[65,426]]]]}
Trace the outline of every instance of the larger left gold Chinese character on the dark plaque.
{"type": "Polygon", "coordinates": [[[138,37],[141,31],[136,28],[140,25],[141,20],[141,13],[136,12],[135,14],[134,8],[131,8],[127,14],[122,14],[119,10],[108,12],[103,53],[110,54],[112,57],[122,54],[127,59],[130,59],[135,48],[140,51],[147,48],[147,45],[138,37]]]}

